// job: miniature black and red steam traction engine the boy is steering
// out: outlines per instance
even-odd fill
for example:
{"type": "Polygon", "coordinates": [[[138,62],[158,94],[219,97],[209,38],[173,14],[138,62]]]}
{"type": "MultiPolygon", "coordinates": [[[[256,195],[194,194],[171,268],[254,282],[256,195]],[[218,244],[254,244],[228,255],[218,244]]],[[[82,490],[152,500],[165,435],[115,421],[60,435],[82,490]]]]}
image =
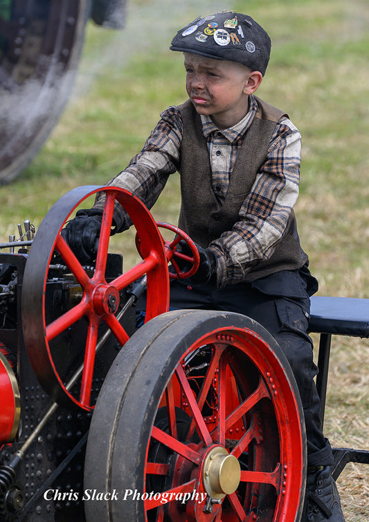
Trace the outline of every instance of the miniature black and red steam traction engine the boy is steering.
{"type": "Polygon", "coordinates": [[[199,257],[159,225],[172,242],[132,194],[82,186],[35,236],[26,222],[1,245],[1,522],[300,519],[305,433],[287,360],[248,317],[168,312],[171,277],[199,257]],[[82,266],[60,231],[99,191],[96,262],[82,266]],[[128,270],[109,248],[116,201],[137,232],[128,270]]]}

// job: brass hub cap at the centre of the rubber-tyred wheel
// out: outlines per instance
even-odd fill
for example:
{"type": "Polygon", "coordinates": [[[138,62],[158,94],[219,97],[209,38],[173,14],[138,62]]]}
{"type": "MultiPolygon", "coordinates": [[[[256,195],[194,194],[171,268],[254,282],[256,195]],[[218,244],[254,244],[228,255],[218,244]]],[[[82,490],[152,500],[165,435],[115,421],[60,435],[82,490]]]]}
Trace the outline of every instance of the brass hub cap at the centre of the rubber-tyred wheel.
{"type": "Polygon", "coordinates": [[[222,499],[235,492],[240,484],[240,462],[222,446],[216,446],[206,455],[203,482],[211,498],[222,499]]]}

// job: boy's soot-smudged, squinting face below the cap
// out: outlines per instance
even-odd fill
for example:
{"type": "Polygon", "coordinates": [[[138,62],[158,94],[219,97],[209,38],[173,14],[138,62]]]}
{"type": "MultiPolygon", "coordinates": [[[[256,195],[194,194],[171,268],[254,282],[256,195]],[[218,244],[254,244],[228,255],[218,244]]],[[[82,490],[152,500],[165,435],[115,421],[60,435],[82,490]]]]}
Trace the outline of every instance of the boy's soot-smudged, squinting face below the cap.
{"type": "Polygon", "coordinates": [[[258,89],[262,74],[228,60],[184,53],[186,90],[199,114],[211,116],[218,128],[238,123],[248,112],[249,94],[258,89]]]}

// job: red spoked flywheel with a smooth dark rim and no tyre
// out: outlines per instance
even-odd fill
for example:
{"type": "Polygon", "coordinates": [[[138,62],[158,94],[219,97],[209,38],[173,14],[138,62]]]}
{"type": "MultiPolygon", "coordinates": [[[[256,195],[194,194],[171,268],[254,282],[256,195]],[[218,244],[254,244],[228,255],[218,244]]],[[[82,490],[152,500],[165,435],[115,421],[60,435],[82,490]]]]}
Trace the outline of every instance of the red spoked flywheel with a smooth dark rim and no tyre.
{"type": "Polygon", "coordinates": [[[79,406],[84,410],[93,408],[91,385],[99,326],[102,322],[105,323],[120,345],[127,342],[129,336],[116,317],[120,305],[120,292],[144,275],[147,276],[146,320],[150,320],[168,310],[168,264],[161,234],[150,212],[132,193],[111,186],[81,186],[66,193],[48,211],[28,254],[21,306],[24,342],[30,363],[46,392],[57,403],[68,407],[79,406]],[[106,195],[105,209],[96,263],[91,269],[80,264],[60,232],[80,202],[100,191],[106,195]],[[125,208],[141,237],[143,260],[123,275],[107,282],[105,271],[115,202],[119,202],[125,208]],[[71,296],[68,309],[58,317],[51,318],[46,309],[46,293],[47,284],[52,282],[49,270],[55,252],[60,255],[62,263],[65,263],[71,273],[75,286],[78,287],[78,292],[74,292],[73,296],[79,294],[79,298],[73,301],[71,296]],[[73,336],[73,325],[82,318],[87,323],[85,336],[80,341],[83,370],[80,390],[77,394],[72,394],[65,379],[66,371],[71,375],[71,368],[67,367],[70,365],[66,360],[68,357],[63,351],[63,345],[53,349],[53,343],[55,344],[59,336],[64,334],[73,336]]]}

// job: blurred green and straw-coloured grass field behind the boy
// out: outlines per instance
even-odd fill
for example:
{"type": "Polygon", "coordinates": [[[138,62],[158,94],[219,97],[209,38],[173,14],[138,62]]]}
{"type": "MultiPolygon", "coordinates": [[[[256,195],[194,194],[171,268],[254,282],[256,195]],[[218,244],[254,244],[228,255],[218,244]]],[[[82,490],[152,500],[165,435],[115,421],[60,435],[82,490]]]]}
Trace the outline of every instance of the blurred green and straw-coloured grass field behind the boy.
{"type": "MultiPolygon", "coordinates": [[[[300,238],[321,295],[369,298],[369,4],[365,0],[129,0],[122,32],[89,26],[73,97],[42,152],[1,187],[0,238],[26,218],[37,227],[60,196],[105,184],[125,167],[159,119],[185,100],[172,35],[197,15],[248,12],[273,42],[260,97],[289,113],[303,135],[300,238]]],[[[153,209],[177,223],[178,178],[153,209]]],[[[132,237],[131,237],[132,239],[132,237]]],[[[121,246],[128,259],[133,245],[121,246]]],[[[132,243],[132,241],[131,241],[132,243]]],[[[132,258],[133,259],[133,258],[132,258]]],[[[325,432],[334,446],[369,449],[369,344],[336,338],[325,432]]],[[[369,470],[339,478],[348,522],[369,519],[369,470]]]]}

